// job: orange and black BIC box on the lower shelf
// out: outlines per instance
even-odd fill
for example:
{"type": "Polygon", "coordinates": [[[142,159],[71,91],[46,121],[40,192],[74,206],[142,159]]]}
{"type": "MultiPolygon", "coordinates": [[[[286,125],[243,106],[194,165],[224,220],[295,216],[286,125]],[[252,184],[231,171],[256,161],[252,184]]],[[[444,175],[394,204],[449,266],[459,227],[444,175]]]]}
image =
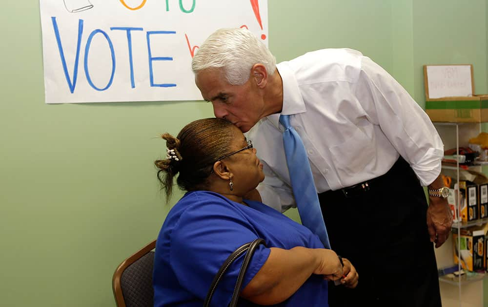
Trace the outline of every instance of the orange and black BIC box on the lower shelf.
{"type": "Polygon", "coordinates": [[[459,263],[468,271],[486,270],[486,251],[485,251],[485,230],[481,227],[467,228],[461,230],[461,235],[454,233],[453,255],[454,263],[459,263]]]}

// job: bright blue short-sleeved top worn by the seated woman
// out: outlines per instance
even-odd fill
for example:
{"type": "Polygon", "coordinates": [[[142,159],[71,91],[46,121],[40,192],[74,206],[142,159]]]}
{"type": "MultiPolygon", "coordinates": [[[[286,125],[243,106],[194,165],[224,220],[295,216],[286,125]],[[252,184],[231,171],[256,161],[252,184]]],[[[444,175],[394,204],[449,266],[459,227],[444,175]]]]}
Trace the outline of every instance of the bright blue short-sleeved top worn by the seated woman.
{"type": "MultiPolygon", "coordinates": [[[[154,258],[154,306],[201,307],[225,259],[238,247],[263,238],[244,277],[243,288],[261,269],[271,247],[324,248],[318,236],[284,214],[260,203],[233,202],[208,191],[187,192],[168,213],[158,235],[154,258]]],[[[243,256],[227,270],[211,306],[230,303],[243,256]]],[[[240,306],[249,302],[240,300],[240,306]]],[[[327,281],[312,275],[286,301],[275,306],[328,306],[327,281]]]]}

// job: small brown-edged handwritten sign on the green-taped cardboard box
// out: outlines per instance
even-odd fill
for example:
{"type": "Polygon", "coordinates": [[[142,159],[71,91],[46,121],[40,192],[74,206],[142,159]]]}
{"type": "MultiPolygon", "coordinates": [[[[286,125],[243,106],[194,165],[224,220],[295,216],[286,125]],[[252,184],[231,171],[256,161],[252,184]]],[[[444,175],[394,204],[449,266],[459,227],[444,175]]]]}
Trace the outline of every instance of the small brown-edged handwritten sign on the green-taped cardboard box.
{"type": "Polygon", "coordinates": [[[424,65],[426,98],[473,96],[473,66],[470,64],[424,65]]]}

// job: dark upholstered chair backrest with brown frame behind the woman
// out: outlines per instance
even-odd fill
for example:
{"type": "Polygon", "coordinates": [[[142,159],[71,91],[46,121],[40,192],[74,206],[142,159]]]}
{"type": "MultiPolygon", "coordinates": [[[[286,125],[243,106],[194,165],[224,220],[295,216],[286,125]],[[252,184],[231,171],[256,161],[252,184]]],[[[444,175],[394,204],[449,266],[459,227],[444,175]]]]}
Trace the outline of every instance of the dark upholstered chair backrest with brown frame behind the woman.
{"type": "Polygon", "coordinates": [[[112,278],[118,307],[153,307],[152,272],[156,240],[125,259],[112,278]]]}

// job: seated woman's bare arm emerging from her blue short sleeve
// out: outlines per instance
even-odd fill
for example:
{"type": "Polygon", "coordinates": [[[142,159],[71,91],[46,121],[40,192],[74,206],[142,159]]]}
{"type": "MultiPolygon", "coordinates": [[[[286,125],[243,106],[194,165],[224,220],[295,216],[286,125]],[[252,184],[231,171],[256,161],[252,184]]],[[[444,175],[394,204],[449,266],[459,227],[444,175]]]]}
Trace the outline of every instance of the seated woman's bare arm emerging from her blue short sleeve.
{"type": "Polygon", "coordinates": [[[312,274],[337,280],[343,268],[337,254],[330,249],[270,248],[263,267],[241,292],[245,299],[259,305],[273,305],[285,301],[312,274]]]}

